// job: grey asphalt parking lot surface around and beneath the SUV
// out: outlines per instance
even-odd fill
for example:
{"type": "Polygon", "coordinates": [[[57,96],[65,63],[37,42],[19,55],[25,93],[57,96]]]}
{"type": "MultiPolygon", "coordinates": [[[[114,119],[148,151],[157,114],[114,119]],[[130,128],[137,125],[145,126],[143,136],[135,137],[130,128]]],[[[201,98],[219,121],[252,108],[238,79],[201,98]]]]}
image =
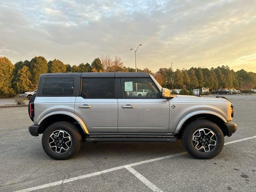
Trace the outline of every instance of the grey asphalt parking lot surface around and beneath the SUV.
{"type": "Polygon", "coordinates": [[[27,108],[0,108],[0,191],[255,191],[256,95],[225,97],[238,128],[210,160],[192,158],[180,140],[83,143],[73,158],[52,160],[28,132],[27,108]]]}

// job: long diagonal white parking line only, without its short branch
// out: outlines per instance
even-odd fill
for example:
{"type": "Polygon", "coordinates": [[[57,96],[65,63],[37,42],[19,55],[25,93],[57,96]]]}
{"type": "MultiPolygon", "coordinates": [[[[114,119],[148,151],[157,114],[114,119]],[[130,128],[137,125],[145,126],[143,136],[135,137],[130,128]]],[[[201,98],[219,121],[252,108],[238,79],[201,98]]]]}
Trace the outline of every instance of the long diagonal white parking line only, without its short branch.
{"type": "MultiPolygon", "coordinates": [[[[228,144],[232,144],[232,143],[236,143],[236,142],[240,142],[240,141],[244,141],[244,140],[248,140],[248,139],[254,139],[254,138],[256,138],[256,136],[227,142],[224,145],[228,145],[228,144]]],[[[187,154],[187,152],[172,154],[172,155],[168,155],[168,156],[158,157],[158,158],[149,159],[149,160],[145,160],[145,161],[140,161],[140,162],[136,162],[136,163],[131,163],[131,164],[123,165],[123,166],[118,166],[118,167],[114,167],[114,168],[111,168],[111,169],[106,169],[106,170],[102,170],[102,171],[98,171],[98,172],[94,172],[94,173],[90,173],[90,174],[86,174],[86,175],[81,175],[81,176],[78,176],[78,177],[72,177],[72,178],[65,179],[65,180],[60,180],[60,181],[56,181],[56,182],[52,182],[52,183],[47,183],[47,184],[43,184],[43,185],[39,185],[39,186],[35,186],[35,187],[30,187],[30,188],[18,190],[16,192],[29,192],[29,191],[34,191],[34,190],[38,190],[38,189],[43,189],[43,188],[47,188],[47,187],[51,187],[51,186],[60,185],[60,184],[63,184],[63,183],[68,183],[68,182],[72,182],[72,181],[76,181],[76,180],[80,180],[80,179],[100,175],[100,174],[107,173],[107,172],[112,172],[112,171],[123,169],[123,168],[126,168],[126,167],[132,167],[132,166],[141,165],[141,164],[145,164],[145,163],[149,163],[149,162],[159,161],[159,160],[163,160],[163,159],[167,159],[167,158],[181,156],[181,155],[184,155],[184,154],[187,154]]]]}

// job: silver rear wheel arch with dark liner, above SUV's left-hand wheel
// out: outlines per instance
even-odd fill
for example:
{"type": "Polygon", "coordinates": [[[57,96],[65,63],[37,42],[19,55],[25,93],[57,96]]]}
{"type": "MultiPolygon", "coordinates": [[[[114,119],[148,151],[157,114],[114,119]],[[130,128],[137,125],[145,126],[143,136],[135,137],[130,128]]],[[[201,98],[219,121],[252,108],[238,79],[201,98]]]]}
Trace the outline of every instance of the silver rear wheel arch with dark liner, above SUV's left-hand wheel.
{"type": "Polygon", "coordinates": [[[50,124],[58,121],[76,122],[83,133],[89,134],[86,125],[83,120],[76,114],[69,111],[54,111],[46,114],[38,125],[42,127],[42,131],[47,128],[50,124]]]}

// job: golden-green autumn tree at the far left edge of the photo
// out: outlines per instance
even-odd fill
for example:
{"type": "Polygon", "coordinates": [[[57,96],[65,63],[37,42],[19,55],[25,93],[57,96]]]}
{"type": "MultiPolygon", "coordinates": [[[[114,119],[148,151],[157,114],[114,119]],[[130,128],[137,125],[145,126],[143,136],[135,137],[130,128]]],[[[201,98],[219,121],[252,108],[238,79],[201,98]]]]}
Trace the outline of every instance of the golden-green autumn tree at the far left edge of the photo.
{"type": "Polygon", "coordinates": [[[0,97],[14,95],[12,88],[12,72],[14,65],[6,57],[0,57],[0,97]]]}

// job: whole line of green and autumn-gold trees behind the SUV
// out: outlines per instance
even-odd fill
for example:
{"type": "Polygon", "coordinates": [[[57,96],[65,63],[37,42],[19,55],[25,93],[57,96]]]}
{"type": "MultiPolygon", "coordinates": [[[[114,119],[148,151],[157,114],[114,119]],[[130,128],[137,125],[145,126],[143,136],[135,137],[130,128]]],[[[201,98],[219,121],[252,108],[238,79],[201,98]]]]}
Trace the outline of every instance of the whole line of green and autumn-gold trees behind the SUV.
{"type": "MultiPolygon", "coordinates": [[[[177,69],[160,68],[153,73],[148,68],[137,69],[138,72],[152,74],[156,80],[166,88],[181,89],[182,84],[187,88],[207,87],[213,90],[218,88],[235,88],[250,90],[256,87],[256,73],[239,70],[234,72],[228,66],[217,68],[190,68],[177,69]]],[[[70,66],[58,59],[47,60],[36,56],[32,60],[19,61],[12,64],[6,57],[0,57],[0,97],[12,97],[16,94],[35,90],[39,76],[43,73],[66,72],[135,72],[134,68],[124,66],[119,56],[106,55],[95,58],[91,64],[81,63],[70,66]]]]}

